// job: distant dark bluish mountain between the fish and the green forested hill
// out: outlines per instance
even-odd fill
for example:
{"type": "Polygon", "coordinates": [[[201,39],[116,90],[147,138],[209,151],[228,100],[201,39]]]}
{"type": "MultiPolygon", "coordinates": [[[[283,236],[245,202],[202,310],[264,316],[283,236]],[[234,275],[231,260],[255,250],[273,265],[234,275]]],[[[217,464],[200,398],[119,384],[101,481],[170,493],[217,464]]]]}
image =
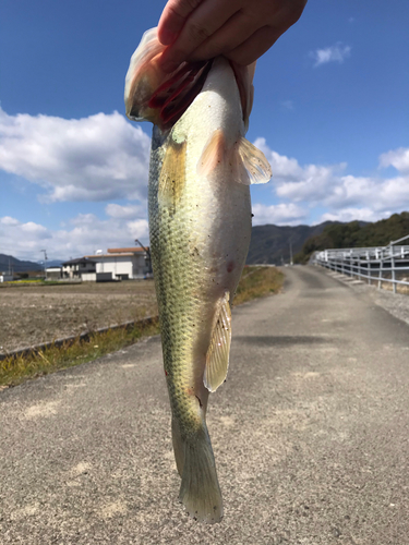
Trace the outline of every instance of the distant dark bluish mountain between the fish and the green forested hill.
{"type": "Polygon", "coordinates": [[[251,232],[250,250],[246,263],[270,263],[281,265],[290,262],[290,244],[292,255],[302,250],[304,242],[321,234],[327,226],[335,221],[324,221],[317,226],[256,226],[251,232]]]}

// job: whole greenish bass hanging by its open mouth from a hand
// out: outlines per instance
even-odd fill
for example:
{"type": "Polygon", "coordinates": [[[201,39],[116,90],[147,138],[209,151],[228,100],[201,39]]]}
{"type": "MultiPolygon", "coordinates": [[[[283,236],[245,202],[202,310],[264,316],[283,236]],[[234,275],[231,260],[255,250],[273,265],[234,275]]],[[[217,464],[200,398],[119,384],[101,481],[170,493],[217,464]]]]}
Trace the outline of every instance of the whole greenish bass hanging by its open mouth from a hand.
{"type": "Polygon", "coordinates": [[[147,31],[125,77],[125,112],[154,124],[148,180],[149,244],[179,499],[200,522],[220,522],[222,497],[206,425],[209,392],[226,380],[231,305],[249,251],[251,183],[272,177],[244,138],[255,63],[220,56],[160,69],[147,31]]]}

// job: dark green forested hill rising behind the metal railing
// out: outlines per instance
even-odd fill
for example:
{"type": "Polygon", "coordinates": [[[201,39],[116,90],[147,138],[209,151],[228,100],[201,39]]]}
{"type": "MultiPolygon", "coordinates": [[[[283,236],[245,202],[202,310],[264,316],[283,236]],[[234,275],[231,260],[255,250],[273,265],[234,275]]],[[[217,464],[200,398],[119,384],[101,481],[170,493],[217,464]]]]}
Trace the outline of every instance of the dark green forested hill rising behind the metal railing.
{"type": "Polygon", "coordinates": [[[409,234],[409,211],[394,214],[374,223],[351,221],[325,226],[320,234],[309,238],[294,263],[306,263],[313,252],[332,247],[386,246],[409,234]]]}

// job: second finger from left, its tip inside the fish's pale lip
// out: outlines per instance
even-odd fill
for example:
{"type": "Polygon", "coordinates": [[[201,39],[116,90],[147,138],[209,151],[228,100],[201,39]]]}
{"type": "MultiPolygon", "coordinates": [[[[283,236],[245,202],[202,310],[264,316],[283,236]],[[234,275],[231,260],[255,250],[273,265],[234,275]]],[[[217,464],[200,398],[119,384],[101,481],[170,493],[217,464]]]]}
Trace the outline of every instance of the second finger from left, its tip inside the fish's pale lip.
{"type": "Polygon", "coordinates": [[[234,2],[206,0],[188,17],[178,38],[165,50],[160,64],[171,72],[237,11],[234,2]]]}

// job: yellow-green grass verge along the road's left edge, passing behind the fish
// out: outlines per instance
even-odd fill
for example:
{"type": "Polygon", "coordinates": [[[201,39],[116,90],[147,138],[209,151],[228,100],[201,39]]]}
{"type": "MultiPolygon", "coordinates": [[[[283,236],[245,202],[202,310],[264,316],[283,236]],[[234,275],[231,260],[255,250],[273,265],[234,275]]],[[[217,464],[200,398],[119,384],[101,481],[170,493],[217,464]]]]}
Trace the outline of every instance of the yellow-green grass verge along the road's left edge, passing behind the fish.
{"type": "MultiPolygon", "coordinates": [[[[282,272],[275,267],[245,267],[234,296],[234,306],[255,298],[277,293],[282,281],[282,272]]],[[[0,386],[15,386],[27,378],[96,360],[133,344],[142,337],[158,332],[159,325],[155,319],[152,324],[135,325],[132,328],[94,332],[85,341],[79,338],[74,343],[51,346],[39,352],[5,358],[0,361],[0,386]]]]}

